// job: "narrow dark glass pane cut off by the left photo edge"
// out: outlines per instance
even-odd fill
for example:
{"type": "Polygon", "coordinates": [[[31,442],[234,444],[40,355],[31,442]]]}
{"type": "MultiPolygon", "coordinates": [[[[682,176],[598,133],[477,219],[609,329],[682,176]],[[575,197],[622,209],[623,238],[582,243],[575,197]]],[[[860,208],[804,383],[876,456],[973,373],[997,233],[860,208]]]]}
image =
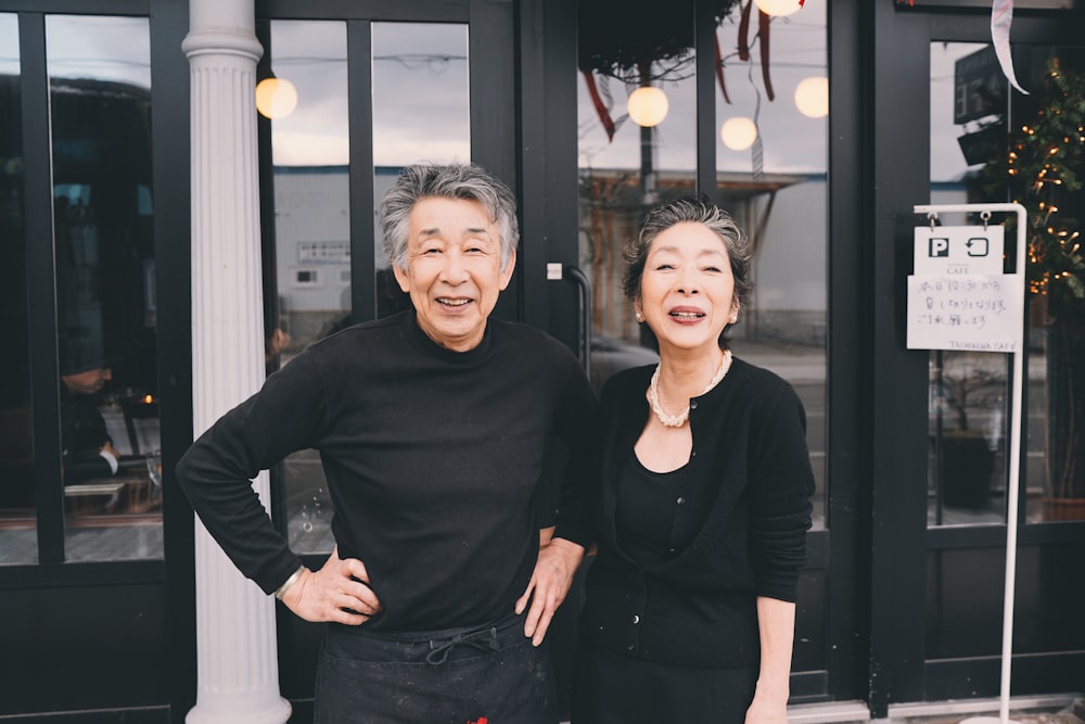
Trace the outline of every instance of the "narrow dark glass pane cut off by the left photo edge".
{"type": "Polygon", "coordinates": [[[0,563],[38,560],[34,509],[18,20],[0,14],[0,563]]]}

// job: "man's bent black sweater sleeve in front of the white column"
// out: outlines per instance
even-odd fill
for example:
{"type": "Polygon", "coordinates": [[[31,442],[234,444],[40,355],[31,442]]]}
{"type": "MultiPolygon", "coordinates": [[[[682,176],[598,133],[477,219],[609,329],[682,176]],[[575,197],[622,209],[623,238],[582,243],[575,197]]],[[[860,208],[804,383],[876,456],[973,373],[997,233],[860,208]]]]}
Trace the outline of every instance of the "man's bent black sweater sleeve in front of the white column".
{"type": "Polygon", "coordinates": [[[290,453],[312,447],[326,419],[317,365],[303,353],[224,415],[177,465],[177,480],[204,526],[265,593],[281,586],[301,560],[251,481],[290,453]]]}

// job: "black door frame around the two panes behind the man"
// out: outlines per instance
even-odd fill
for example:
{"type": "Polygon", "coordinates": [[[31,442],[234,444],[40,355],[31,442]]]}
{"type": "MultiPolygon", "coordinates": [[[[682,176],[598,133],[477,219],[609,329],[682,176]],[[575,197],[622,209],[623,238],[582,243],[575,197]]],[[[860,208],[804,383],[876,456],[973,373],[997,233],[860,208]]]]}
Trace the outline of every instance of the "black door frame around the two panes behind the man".
{"type": "MultiPolygon", "coordinates": [[[[372,137],[372,52],[371,25],[374,22],[419,22],[419,23],[462,23],[468,25],[468,54],[470,84],[471,157],[486,166],[513,188],[523,199],[523,177],[520,175],[521,154],[518,139],[516,77],[520,69],[518,46],[515,45],[516,3],[509,0],[420,0],[410,3],[388,3],[381,0],[297,3],[290,0],[261,0],[256,4],[258,33],[266,39],[267,24],[271,21],[307,20],[345,22],[347,29],[347,82],[349,92],[349,140],[348,161],[350,199],[350,259],[352,259],[352,314],[355,319],[372,319],[376,315],[373,295],[373,137],[372,137]],[[369,280],[357,283],[358,280],[369,280]]],[[[266,61],[267,59],[265,59],[266,61]]],[[[261,132],[261,145],[269,145],[266,131],[261,132]]],[[[270,153],[265,149],[261,156],[261,199],[273,199],[271,194],[270,153]]],[[[532,178],[536,178],[534,175],[532,178]]],[[[528,213],[521,208],[521,217],[528,213]]],[[[275,277],[268,269],[275,268],[273,209],[270,204],[261,204],[261,228],[265,230],[264,268],[265,299],[275,299],[275,277]],[[270,243],[269,243],[270,242],[270,243]]],[[[544,215],[545,216],[545,215],[544,215]]],[[[523,227],[527,224],[524,223],[523,227]]],[[[521,319],[524,315],[523,290],[537,281],[528,269],[528,262],[535,257],[534,243],[523,234],[518,258],[518,274],[509,289],[501,294],[495,314],[509,319],[521,319]],[[533,282],[524,278],[531,276],[533,282]]],[[[545,290],[544,290],[545,291],[545,290]]],[[[533,305],[538,304],[533,295],[533,305]]],[[[270,309],[269,309],[270,310],[270,309]]],[[[272,475],[275,478],[275,475],[272,475]]],[[[272,483],[272,510],[281,500],[281,485],[272,483]]],[[[284,530],[284,522],[278,521],[284,530]]],[[[323,564],[324,556],[302,556],[310,568],[323,564]]],[[[279,651],[280,688],[294,707],[294,721],[311,717],[314,673],[316,651],[323,627],[301,621],[297,617],[277,608],[277,631],[279,651]]]]}

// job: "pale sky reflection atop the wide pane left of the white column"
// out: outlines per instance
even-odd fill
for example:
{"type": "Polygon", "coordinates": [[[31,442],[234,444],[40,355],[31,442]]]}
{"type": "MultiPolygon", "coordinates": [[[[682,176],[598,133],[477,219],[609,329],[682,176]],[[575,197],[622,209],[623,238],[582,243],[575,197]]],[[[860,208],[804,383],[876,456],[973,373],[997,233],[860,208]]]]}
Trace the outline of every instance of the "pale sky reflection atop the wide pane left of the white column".
{"type": "Polygon", "coordinates": [[[54,78],[98,78],[150,88],[148,18],[47,15],[46,59],[54,78]]]}

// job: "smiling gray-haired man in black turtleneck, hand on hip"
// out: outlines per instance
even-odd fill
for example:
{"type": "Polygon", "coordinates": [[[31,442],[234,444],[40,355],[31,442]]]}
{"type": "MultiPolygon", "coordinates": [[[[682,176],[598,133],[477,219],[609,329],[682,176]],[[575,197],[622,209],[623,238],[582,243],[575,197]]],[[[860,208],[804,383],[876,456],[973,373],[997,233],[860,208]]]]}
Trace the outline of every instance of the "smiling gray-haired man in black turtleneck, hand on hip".
{"type": "Polygon", "coordinates": [[[519,238],[501,181],[411,166],[381,215],[413,308],[309,346],[193,444],[178,480],[246,576],[330,622],[317,722],[552,724],[540,644],[590,537],[588,381],[545,333],[489,318],[519,238]],[[569,448],[552,538],[537,510],[551,435],[569,448]],[[308,447],[335,508],[318,571],[248,483],[308,447]]]}

